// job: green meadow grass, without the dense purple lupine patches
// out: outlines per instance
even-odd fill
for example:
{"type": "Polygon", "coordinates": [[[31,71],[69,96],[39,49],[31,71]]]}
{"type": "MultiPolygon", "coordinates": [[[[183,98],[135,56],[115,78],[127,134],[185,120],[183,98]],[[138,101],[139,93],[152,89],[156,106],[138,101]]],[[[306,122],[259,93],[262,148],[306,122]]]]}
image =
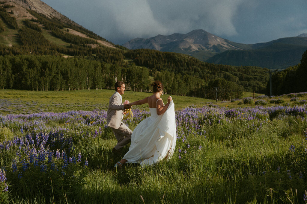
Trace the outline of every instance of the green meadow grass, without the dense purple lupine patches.
{"type": "MultiPolygon", "coordinates": [[[[25,105],[46,104],[54,112],[67,111],[70,108],[91,109],[96,104],[106,109],[113,93],[113,90],[0,91],[2,100],[18,100],[25,105]],[[59,102],[63,107],[56,109],[55,104],[59,102]],[[72,107],[71,104],[81,106],[72,107]]],[[[251,93],[245,93],[245,96],[249,96],[248,94],[251,93]]],[[[149,95],[150,93],[126,91],[123,100],[134,101],[149,95]]],[[[166,97],[162,96],[164,101],[166,97]]],[[[279,98],[288,100],[287,97],[279,98]]],[[[300,100],[305,98],[306,96],[299,97],[300,100]]],[[[191,104],[202,107],[207,102],[212,102],[184,96],[173,96],[173,100],[177,110],[191,104]]],[[[214,102],[227,107],[234,104],[227,103],[214,102]]],[[[294,106],[295,102],[290,105],[294,106]]],[[[255,105],[233,105],[235,106],[255,105]]],[[[213,111],[208,115],[213,117],[217,113],[218,111],[213,111]]],[[[304,133],[307,131],[306,118],[281,116],[270,120],[268,115],[263,115],[259,120],[229,119],[230,122],[212,121],[210,124],[209,117],[199,116],[194,120],[203,120],[200,130],[192,128],[190,122],[179,126],[177,134],[181,139],[177,140],[175,153],[169,161],[147,167],[125,164],[122,171],[114,172],[113,165],[128,151],[128,147],[121,154],[114,155],[111,149],[116,140],[110,129],[107,128],[99,137],[92,138],[86,136],[86,133],[101,126],[87,126],[73,121],[66,124],[51,119],[47,127],[69,129],[64,134],[73,137],[76,152],[81,151],[82,158],[88,159],[86,183],[78,186],[79,190],[76,192],[70,192],[71,195],[63,191],[57,196],[45,191],[37,194],[36,188],[24,186],[20,188],[24,188],[27,193],[22,195],[18,191],[11,191],[10,200],[12,203],[304,203],[303,194],[307,189],[307,133],[304,133]],[[205,134],[200,135],[204,131],[205,134]],[[182,142],[183,136],[187,140],[182,142]],[[289,150],[291,145],[295,146],[295,152],[289,150]],[[300,173],[303,178],[300,178],[300,173]]],[[[127,123],[133,130],[138,122],[127,123]]],[[[6,127],[7,125],[2,125],[0,131],[3,134],[0,139],[8,136],[12,138],[12,132],[17,136],[22,135],[18,129],[6,127]]],[[[9,165],[14,157],[14,152],[4,154],[0,151],[2,165],[9,165]]],[[[11,184],[16,185],[19,182],[10,179],[8,181],[11,184]]],[[[52,183],[47,182],[46,185],[52,183]]]]}

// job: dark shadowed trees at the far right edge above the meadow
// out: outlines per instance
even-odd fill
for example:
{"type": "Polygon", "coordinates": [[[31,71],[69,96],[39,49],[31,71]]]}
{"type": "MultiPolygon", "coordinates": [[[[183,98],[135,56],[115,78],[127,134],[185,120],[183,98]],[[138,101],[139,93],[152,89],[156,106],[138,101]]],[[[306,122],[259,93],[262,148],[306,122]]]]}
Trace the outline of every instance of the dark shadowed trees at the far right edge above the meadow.
{"type": "MultiPolygon", "coordinates": [[[[282,95],[307,91],[307,51],[304,52],[301,64],[289,67],[272,74],[272,94],[282,95]]],[[[266,95],[270,95],[270,83],[268,82],[266,95]]]]}

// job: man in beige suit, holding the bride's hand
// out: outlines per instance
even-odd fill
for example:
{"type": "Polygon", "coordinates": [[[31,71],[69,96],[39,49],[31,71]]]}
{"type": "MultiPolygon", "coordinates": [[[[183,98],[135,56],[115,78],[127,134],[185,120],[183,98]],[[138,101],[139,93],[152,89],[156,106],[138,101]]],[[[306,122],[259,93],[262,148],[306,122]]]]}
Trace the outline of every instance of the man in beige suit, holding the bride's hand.
{"type": "Polygon", "coordinates": [[[112,149],[113,153],[119,153],[120,149],[130,142],[132,134],[132,131],[122,123],[124,109],[131,108],[128,104],[122,104],[122,94],[124,94],[125,90],[124,82],[117,81],[115,83],[115,93],[110,98],[107,111],[107,126],[112,129],[117,139],[117,144],[112,149]]]}

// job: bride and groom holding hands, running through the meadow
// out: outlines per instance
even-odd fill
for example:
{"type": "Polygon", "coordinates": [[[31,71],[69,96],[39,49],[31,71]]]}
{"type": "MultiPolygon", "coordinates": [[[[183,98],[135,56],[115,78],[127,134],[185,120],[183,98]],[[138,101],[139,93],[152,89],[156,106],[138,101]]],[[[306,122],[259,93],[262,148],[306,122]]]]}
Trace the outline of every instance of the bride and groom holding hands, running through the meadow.
{"type": "Polygon", "coordinates": [[[113,153],[119,153],[120,149],[131,142],[129,151],[114,168],[120,169],[127,163],[139,163],[151,165],[162,159],[171,158],[176,146],[176,121],[175,106],[172,96],[163,103],[160,96],[163,94],[163,85],[160,81],[154,81],[153,95],[130,104],[122,104],[125,84],[122,81],[115,83],[115,93],[109,101],[107,110],[107,126],[109,126],[117,139],[117,144],[112,149],[113,153]],[[124,110],[134,105],[148,104],[150,117],[142,120],[132,132],[122,123],[124,110]]]}

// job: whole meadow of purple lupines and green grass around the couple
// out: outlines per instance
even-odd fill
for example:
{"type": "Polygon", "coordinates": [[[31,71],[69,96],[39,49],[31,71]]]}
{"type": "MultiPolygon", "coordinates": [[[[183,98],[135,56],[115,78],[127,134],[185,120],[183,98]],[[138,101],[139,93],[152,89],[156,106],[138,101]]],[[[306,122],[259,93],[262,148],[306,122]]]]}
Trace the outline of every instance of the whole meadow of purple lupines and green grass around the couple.
{"type": "MultiPolygon", "coordinates": [[[[8,92],[0,98],[0,203],[307,202],[307,93],[222,103],[172,96],[180,107],[173,157],[115,172],[129,145],[111,152],[111,92],[86,104],[8,92]]],[[[150,114],[131,110],[123,122],[134,130],[150,114]]]]}

